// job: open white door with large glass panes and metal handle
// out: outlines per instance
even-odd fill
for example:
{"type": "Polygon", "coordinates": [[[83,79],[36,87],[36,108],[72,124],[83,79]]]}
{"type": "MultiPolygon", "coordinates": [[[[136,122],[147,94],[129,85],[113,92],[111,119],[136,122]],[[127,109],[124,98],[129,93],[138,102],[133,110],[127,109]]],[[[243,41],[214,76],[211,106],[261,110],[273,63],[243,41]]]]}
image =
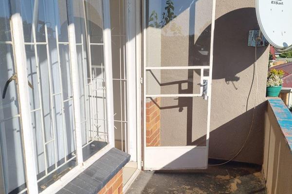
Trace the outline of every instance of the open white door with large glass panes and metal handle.
{"type": "Polygon", "coordinates": [[[143,10],[144,169],[207,168],[215,0],[143,10]]]}

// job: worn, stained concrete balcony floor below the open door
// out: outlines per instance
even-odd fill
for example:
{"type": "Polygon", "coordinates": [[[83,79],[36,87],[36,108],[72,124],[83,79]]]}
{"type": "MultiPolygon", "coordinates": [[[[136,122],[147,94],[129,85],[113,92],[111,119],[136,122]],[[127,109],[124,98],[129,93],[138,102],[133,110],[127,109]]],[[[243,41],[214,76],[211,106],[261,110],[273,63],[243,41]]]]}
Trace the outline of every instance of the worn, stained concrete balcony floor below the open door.
{"type": "Polygon", "coordinates": [[[266,194],[261,166],[232,162],[196,171],[142,171],[126,194],[266,194]]]}

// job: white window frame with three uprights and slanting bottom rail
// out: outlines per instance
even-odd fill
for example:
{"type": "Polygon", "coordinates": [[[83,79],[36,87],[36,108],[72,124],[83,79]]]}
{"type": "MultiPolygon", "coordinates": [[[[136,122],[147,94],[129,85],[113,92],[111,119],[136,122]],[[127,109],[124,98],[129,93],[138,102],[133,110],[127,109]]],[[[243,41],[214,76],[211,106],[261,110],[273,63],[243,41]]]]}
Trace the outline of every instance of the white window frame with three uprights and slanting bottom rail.
{"type": "MultiPolygon", "coordinates": [[[[19,4],[20,5],[20,4],[19,4]]],[[[26,175],[27,191],[29,194],[38,194],[37,186],[37,171],[36,161],[33,145],[33,132],[31,130],[31,111],[29,106],[29,95],[27,90],[27,64],[26,53],[24,47],[24,35],[22,28],[22,18],[19,14],[20,7],[18,6],[18,13],[12,13],[11,26],[13,46],[15,51],[15,66],[18,76],[18,97],[19,97],[19,112],[22,127],[23,152],[24,152],[24,166],[26,175]],[[21,95],[19,95],[21,94],[21,95]]],[[[107,127],[109,144],[91,156],[87,161],[83,161],[82,157],[82,136],[81,136],[81,120],[80,120],[80,99],[79,99],[79,79],[78,79],[78,64],[75,41],[75,29],[73,23],[73,0],[67,0],[68,9],[68,31],[69,31],[69,47],[70,47],[70,62],[72,73],[73,86],[73,106],[74,106],[74,123],[76,131],[76,153],[77,166],[65,174],[63,177],[48,186],[41,194],[54,194],[62,187],[68,184],[73,178],[83,172],[91,164],[97,161],[112,147],[114,147],[114,126],[113,126],[113,86],[112,86],[112,66],[111,66],[111,34],[110,34],[110,1],[103,0],[103,14],[104,14],[104,64],[106,76],[106,97],[107,97],[107,127]]]]}

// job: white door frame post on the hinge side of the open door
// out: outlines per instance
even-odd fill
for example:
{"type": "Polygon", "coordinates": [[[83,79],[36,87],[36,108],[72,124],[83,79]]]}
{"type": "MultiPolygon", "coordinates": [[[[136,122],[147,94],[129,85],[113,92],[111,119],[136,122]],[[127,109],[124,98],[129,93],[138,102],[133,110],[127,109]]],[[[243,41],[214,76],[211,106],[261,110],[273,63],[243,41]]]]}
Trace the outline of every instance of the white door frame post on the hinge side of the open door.
{"type": "Polygon", "coordinates": [[[130,161],[137,162],[137,169],[123,186],[126,193],[142,170],[142,33],[141,1],[125,0],[126,15],[126,64],[128,75],[128,154],[130,161]]]}

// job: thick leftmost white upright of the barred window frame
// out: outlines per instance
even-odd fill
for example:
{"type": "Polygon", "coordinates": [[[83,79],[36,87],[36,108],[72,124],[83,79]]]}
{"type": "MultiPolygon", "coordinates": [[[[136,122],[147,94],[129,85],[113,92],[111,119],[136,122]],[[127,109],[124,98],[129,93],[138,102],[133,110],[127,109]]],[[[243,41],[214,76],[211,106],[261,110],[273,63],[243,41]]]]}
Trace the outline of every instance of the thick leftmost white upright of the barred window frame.
{"type": "MultiPolygon", "coordinates": [[[[17,6],[17,5],[15,5],[17,6]]],[[[20,10],[19,7],[15,7],[20,10]]],[[[22,19],[19,13],[11,13],[12,44],[14,49],[14,59],[18,82],[18,101],[20,124],[22,128],[22,144],[24,156],[24,169],[26,176],[26,187],[29,194],[38,192],[37,188],[37,170],[35,161],[35,151],[33,149],[33,130],[31,123],[31,111],[29,105],[29,94],[27,90],[27,68],[26,54],[24,47],[24,36],[22,28],[22,19]],[[21,95],[20,95],[21,94],[21,95]],[[29,189],[28,189],[29,188],[29,189]]],[[[25,191],[25,190],[24,190],[25,191]]]]}

